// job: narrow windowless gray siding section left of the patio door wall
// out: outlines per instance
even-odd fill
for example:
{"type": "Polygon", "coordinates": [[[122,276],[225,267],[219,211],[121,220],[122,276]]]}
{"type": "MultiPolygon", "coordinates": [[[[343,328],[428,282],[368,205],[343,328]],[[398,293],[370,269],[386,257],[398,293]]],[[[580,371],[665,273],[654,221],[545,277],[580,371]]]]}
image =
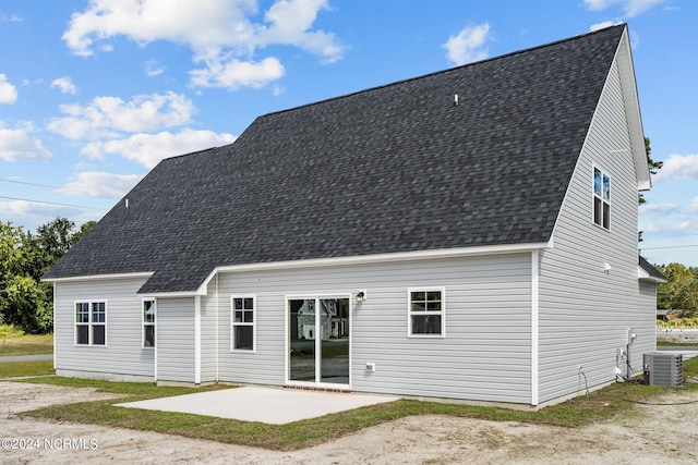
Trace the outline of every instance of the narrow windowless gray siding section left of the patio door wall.
{"type": "Polygon", "coordinates": [[[193,297],[157,299],[157,380],[196,382],[193,297]]]}

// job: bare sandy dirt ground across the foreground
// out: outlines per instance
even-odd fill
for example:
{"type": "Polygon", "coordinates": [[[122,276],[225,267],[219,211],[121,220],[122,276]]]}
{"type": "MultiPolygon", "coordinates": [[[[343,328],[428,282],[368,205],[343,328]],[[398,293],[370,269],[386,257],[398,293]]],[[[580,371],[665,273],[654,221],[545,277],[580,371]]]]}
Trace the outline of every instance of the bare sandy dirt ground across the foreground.
{"type": "MultiPolygon", "coordinates": [[[[15,415],[49,404],[109,396],[84,388],[0,382],[0,463],[698,463],[698,403],[636,405],[617,418],[577,429],[443,416],[409,417],[294,452],[94,425],[37,421],[15,415]]],[[[698,394],[683,392],[653,400],[690,401],[698,401],[698,394]]]]}

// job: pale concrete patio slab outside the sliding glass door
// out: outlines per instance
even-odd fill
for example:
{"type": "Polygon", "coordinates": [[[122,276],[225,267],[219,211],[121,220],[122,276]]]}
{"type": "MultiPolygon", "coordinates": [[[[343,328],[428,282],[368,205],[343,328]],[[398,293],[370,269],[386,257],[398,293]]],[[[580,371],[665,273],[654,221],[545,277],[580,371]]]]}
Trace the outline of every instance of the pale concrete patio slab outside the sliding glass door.
{"type": "Polygon", "coordinates": [[[284,425],[398,399],[400,397],[388,395],[244,387],[129,402],[117,406],[284,425]]]}

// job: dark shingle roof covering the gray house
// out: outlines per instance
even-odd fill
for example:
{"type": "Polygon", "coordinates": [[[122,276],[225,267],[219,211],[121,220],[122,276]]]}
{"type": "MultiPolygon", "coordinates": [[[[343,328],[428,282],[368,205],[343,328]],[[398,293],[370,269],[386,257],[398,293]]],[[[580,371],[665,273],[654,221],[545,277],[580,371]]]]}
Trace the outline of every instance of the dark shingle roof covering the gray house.
{"type": "Polygon", "coordinates": [[[160,162],[45,278],[193,291],[222,265],[546,242],[624,28],[261,117],[160,162]]]}

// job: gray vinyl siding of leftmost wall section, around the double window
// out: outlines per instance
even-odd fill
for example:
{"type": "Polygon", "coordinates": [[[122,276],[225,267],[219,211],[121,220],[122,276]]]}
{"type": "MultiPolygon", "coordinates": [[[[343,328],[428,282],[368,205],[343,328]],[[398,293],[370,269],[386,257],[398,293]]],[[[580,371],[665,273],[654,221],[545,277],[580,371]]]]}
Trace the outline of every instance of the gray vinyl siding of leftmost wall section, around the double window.
{"type": "Polygon", "coordinates": [[[86,374],[154,375],[153,348],[143,348],[145,279],[65,281],[55,284],[56,369],[86,374]],[[75,302],[106,303],[106,345],[75,345],[75,302]]]}

